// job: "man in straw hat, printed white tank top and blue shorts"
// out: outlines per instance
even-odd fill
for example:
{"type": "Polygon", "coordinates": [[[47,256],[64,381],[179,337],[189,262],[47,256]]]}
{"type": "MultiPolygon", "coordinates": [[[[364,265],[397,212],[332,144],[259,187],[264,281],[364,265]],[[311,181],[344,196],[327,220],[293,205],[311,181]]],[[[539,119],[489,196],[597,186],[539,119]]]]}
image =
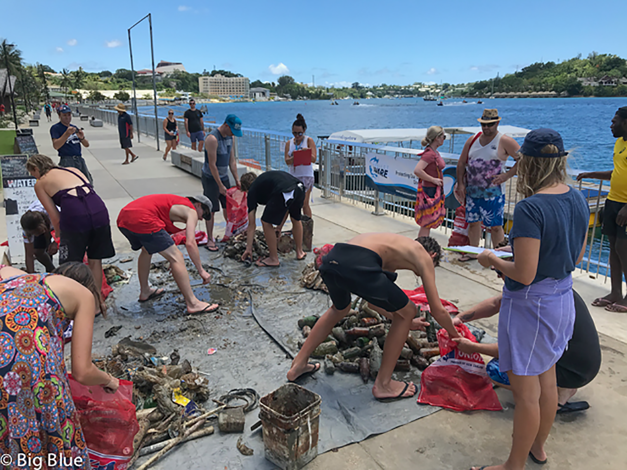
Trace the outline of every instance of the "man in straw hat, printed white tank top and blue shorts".
{"type": "MultiPolygon", "coordinates": [[[[492,228],[492,244],[505,239],[503,211],[505,194],[501,185],[516,174],[516,165],[507,172],[503,166],[508,157],[514,157],[520,145],[498,132],[498,110],[485,109],[481,118],[482,132],[473,135],[464,145],[457,162],[457,189],[460,201],[466,201],[468,238],[472,246],[479,246],[481,224],[492,228]]],[[[464,255],[460,261],[475,259],[464,255]]]]}

